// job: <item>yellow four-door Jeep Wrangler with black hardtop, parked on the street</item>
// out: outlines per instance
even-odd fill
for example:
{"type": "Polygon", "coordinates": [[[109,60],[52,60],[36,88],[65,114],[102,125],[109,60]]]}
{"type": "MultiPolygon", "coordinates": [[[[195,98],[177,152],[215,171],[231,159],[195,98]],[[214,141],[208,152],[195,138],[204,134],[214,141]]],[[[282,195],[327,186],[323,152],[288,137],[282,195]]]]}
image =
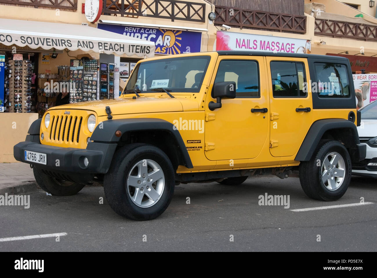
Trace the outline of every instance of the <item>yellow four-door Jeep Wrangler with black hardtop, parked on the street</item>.
{"type": "Polygon", "coordinates": [[[337,200],[365,158],[348,59],[218,51],[141,60],[117,99],[50,108],[14,157],[56,196],[103,182],[134,220],[165,211],[179,183],[299,176],[337,200]]]}

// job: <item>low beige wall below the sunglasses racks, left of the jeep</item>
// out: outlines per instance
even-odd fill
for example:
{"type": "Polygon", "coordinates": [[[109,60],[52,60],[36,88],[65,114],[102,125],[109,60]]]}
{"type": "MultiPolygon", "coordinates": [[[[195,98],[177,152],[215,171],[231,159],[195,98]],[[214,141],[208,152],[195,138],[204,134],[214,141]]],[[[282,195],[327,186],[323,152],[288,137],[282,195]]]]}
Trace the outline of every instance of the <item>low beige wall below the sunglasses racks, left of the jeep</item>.
{"type": "Polygon", "coordinates": [[[13,146],[25,141],[30,125],[37,119],[37,113],[0,113],[0,163],[16,162],[13,146]]]}

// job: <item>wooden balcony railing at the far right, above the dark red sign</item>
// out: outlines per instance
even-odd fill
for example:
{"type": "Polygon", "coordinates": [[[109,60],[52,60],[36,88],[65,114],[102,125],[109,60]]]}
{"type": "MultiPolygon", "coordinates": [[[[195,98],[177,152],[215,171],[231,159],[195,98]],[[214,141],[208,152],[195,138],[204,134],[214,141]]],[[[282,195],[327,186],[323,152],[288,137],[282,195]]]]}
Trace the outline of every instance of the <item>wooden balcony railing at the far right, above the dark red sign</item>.
{"type": "Polygon", "coordinates": [[[315,22],[316,35],[377,41],[377,26],[327,19],[316,19],[315,22]]]}

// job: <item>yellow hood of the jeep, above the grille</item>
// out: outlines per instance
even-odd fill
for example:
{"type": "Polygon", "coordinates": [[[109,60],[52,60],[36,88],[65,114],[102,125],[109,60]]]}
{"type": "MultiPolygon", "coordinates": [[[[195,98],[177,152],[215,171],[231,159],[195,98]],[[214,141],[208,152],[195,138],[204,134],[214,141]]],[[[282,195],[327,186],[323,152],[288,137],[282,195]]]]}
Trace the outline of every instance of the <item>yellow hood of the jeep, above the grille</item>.
{"type": "Polygon", "coordinates": [[[66,104],[50,108],[56,109],[80,109],[92,110],[97,116],[105,116],[106,106],[110,107],[111,115],[124,115],[135,113],[156,113],[156,112],[178,112],[178,111],[198,111],[197,101],[186,98],[159,98],[159,97],[140,97],[101,99],[97,101],[85,101],[75,104],[66,104]]]}

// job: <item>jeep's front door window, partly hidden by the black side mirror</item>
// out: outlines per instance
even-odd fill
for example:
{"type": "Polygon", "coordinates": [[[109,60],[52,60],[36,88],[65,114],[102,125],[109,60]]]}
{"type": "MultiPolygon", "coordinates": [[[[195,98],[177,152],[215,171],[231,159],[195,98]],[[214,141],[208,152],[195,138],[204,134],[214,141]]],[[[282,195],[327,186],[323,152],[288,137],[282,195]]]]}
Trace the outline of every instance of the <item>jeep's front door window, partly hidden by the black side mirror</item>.
{"type": "Polygon", "coordinates": [[[219,64],[216,82],[236,82],[236,98],[259,98],[259,67],[257,61],[223,60],[219,64]]]}

